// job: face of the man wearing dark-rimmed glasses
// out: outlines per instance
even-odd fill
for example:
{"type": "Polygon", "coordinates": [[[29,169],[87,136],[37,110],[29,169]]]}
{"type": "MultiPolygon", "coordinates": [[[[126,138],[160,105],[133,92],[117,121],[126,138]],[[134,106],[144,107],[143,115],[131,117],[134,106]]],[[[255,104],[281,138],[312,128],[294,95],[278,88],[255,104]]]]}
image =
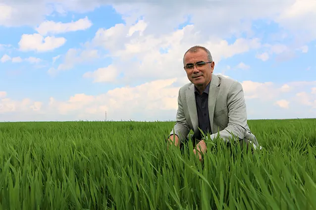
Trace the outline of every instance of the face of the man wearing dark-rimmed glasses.
{"type": "Polygon", "coordinates": [[[204,88],[211,81],[215,65],[214,62],[206,62],[209,62],[208,53],[203,49],[199,49],[196,52],[187,52],[184,56],[184,69],[188,79],[194,85],[203,86],[204,88]],[[197,65],[192,66],[194,64],[197,65]]]}

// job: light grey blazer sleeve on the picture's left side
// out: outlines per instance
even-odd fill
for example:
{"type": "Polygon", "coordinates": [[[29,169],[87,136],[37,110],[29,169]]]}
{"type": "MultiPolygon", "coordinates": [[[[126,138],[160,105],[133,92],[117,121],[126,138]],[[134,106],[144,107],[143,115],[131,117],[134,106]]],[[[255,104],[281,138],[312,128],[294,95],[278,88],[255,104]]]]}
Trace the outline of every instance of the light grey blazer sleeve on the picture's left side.
{"type": "MultiPolygon", "coordinates": [[[[178,93],[178,110],[176,114],[176,123],[170,132],[170,135],[175,134],[179,139],[186,138],[190,132],[190,126],[185,118],[183,104],[181,100],[181,88],[178,93]]],[[[170,136],[169,135],[169,136],[170,136]]]]}

